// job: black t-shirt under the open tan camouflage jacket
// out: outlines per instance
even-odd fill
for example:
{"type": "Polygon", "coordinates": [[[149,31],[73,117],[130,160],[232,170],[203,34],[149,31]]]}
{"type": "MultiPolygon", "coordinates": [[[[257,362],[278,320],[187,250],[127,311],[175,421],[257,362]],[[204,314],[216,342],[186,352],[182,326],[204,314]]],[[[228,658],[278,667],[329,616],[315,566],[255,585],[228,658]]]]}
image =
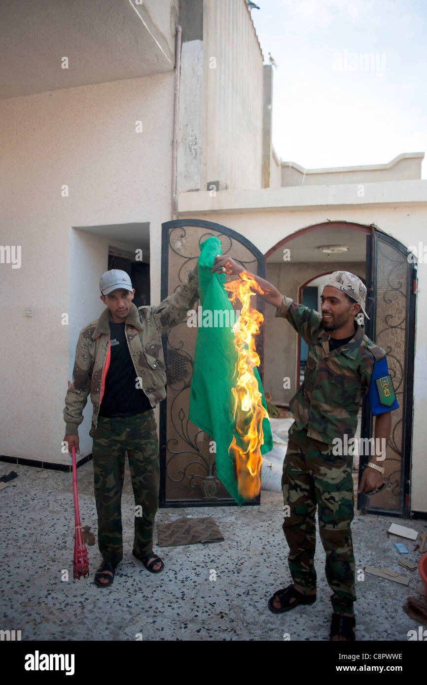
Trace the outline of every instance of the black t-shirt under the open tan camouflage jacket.
{"type": "Polygon", "coordinates": [[[99,416],[133,416],[151,409],[143,388],[136,388],[136,371],[125,336],[125,323],[110,321],[110,366],[99,416]]]}

